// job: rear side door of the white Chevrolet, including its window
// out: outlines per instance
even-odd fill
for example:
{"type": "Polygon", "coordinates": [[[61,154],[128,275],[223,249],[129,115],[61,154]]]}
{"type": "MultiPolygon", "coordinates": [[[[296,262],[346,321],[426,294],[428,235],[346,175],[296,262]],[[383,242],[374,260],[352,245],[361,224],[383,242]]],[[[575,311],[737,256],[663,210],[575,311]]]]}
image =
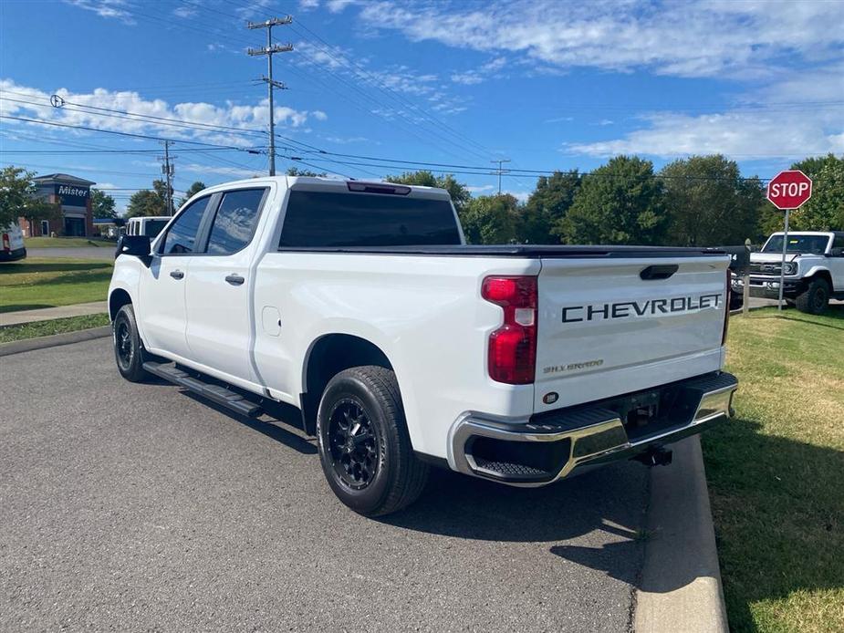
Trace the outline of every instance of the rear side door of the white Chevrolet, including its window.
{"type": "Polygon", "coordinates": [[[258,382],[252,368],[255,337],[251,264],[253,239],[267,187],[233,189],[219,198],[207,246],[193,257],[186,284],[190,358],[228,376],[258,382]]]}

